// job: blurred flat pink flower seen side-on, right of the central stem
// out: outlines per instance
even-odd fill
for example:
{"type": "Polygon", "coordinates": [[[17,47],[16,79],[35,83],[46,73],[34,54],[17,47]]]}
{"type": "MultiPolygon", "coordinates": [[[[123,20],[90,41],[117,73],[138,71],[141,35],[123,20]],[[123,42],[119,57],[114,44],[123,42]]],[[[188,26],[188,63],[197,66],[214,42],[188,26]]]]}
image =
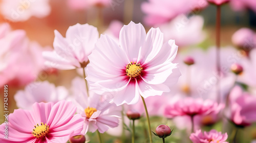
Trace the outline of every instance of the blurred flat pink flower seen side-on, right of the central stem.
{"type": "Polygon", "coordinates": [[[164,115],[168,118],[183,115],[206,115],[212,112],[219,112],[222,108],[222,104],[218,105],[214,101],[185,98],[178,100],[174,104],[167,105],[164,109],[164,115]]]}

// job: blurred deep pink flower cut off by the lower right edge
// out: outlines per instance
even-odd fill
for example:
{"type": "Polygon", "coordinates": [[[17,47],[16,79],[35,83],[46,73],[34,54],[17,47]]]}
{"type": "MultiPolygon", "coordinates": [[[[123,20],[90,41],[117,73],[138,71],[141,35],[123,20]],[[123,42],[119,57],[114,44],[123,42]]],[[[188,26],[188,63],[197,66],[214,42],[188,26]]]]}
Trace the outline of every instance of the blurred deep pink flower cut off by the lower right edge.
{"type": "Polygon", "coordinates": [[[249,126],[256,122],[256,97],[236,86],[230,92],[230,120],[237,126],[249,126]]]}

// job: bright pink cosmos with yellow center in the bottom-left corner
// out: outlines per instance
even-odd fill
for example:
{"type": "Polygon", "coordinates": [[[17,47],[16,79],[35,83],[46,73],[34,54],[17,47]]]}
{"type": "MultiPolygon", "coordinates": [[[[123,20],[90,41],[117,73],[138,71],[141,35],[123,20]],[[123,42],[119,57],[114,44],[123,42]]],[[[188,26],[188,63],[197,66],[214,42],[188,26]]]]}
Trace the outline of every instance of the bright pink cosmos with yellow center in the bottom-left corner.
{"type": "Polygon", "coordinates": [[[83,128],[81,115],[71,102],[35,103],[33,111],[17,109],[8,115],[8,139],[5,123],[0,125],[1,142],[66,142],[83,128]]]}

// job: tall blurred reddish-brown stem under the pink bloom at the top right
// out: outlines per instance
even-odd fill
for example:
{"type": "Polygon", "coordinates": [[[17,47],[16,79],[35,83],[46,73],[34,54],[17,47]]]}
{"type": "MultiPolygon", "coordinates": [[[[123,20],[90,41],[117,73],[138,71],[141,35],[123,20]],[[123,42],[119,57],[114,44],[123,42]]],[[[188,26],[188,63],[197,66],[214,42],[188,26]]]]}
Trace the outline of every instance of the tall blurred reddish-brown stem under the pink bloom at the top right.
{"type": "MultiPolygon", "coordinates": [[[[216,67],[217,67],[217,74],[221,74],[220,69],[220,34],[221,31],[221,6],[217,5],[217,14],[216,14],[216,67]]],[[[220,80],[217,83],[217,101],[220,103],[220,80]]]]}

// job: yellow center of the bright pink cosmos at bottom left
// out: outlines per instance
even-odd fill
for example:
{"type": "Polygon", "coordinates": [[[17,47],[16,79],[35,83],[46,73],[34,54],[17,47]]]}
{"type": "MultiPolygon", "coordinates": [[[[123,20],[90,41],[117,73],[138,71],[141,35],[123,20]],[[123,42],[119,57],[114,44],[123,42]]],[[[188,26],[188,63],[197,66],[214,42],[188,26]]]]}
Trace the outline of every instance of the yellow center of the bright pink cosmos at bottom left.
{"type": "Polygon", "coordinates": [[[34,127],[35,127],[35,129],[33,129],[32,134],[36,138],[40,138],[40,137],[46,136],[46,134],[49,132],[49,126],[47,126],[44,123],[41,123],[40,126],[37,124],[34,127]]]}

